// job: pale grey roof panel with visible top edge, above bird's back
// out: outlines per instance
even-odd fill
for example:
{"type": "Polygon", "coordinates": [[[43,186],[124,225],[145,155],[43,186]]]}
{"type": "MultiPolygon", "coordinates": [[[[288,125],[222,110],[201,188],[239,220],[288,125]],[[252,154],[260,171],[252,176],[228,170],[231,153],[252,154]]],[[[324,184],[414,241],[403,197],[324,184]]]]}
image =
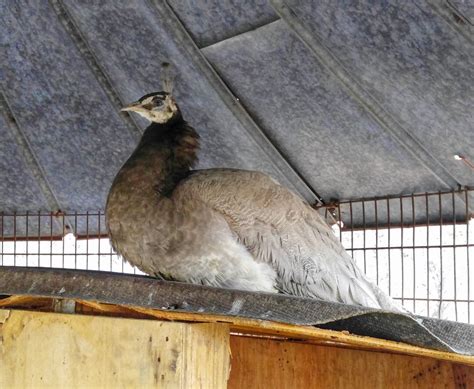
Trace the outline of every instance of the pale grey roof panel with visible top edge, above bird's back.
{"type": "Polygon", "coordinates": [[[323,199],[438,187],[431,173],[384,133],[283,21],[207,47],[204,53],[323,199]]]}

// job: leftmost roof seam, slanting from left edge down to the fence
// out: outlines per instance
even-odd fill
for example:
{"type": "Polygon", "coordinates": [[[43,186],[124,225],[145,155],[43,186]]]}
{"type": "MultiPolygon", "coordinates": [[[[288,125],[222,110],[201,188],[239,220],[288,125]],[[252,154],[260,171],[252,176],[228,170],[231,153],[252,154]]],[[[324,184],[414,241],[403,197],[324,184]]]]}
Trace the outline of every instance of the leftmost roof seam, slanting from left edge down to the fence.
{"type": "MultiPolygon", "coordinates": [[[[44,195],[48,207],[50,208],[50,210],[62,210],[63,208],[61,207],[59,200],[57,199],[54,191],[51,189],[51,185],[48,182],[46,173],[41,168],[41,164],[39,163],[38,158],[28,141],[28,138],[26,137],[21,127],[18,125],[18,122],[15,119],[15,115],[13,114],[6,99],[6,96],[3,92],[0,92],[0,111],[5,117],[8,124],[8,128],[10,129],[12,135],[14,136],[17,142],[17,145],[19,146],[19,149],[21,150],[24,162],[28,166],[36,183],[41,189],[41,192],[44,195]]],[[[68,224],[69,226],[72,225],[69,220],[68,224]]]]}

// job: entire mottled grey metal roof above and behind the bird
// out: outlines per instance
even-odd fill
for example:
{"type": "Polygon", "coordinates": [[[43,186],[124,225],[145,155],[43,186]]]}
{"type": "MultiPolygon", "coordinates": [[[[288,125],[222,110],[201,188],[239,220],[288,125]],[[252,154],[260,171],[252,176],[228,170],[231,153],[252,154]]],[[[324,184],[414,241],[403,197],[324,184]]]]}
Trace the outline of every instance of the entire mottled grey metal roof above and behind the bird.
{"type": "Polygon", "coordinates": [[[473,22],[461,0],[3,2],[0,210],[103,209],[146,126],[119,108],[163,61],[199,168],[311,203],[474,186],[473,22]]]}

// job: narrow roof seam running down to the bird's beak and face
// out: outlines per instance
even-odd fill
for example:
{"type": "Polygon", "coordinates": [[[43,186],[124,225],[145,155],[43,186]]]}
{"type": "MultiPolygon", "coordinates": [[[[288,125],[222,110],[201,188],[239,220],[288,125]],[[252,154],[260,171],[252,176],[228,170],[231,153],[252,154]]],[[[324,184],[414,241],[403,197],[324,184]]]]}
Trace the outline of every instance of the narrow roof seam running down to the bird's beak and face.
{"type": "MultiPolygon", "coordinates": [[[[74,18],[68,12],[67,7],[63,4],[62,0],[51,0],[51,5],[56,15],[61,22],[62,26],[64,27],[65,31],[68,33],[69,37],[72,39],[74,44],[77,47],[77,50],[81,54],[81,57],[85,60],[89,68],[91,69],[92,73],[94,74],[95,78],[99,82],[100,86],[104,90],[105,94],[111,101],[111,103],[118,108],[123,107],[123,102],[120,99],[119,93],[113,87],[110,78],[108,77],[107,73],[99,64],[99,60],[95,57],[92,49],[87,43],[87,40],[82,35],[81,31],[77,27],[74,18]]],[[[139,140],[142,136],[142,129],[134,121],[134,119],[123,112],[119,112],[121,119],[125,122],[125,125],[129,132],[132,134],[135,140],[139,140]]]]}

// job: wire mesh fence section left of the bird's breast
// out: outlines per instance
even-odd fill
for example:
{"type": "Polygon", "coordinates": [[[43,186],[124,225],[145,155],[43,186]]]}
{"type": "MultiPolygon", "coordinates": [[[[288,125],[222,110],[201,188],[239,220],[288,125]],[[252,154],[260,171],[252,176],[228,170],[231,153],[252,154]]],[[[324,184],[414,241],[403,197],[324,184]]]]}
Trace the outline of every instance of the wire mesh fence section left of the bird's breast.
{"type": "Polygon", "coordinates": [[[0,266],[143,274],[120,258],[103,212],[0,214],[0,266]]]}

